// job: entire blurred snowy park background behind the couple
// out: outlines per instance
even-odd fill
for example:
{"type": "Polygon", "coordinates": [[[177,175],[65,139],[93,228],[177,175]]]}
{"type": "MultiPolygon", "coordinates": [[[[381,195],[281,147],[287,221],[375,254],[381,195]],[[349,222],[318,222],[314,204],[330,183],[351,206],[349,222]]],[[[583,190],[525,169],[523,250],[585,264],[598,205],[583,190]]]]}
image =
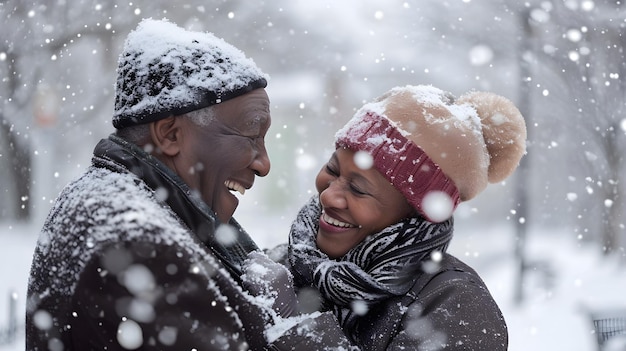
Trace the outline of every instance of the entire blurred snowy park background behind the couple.
{"type": "MultiPolygon", "coordinates": [[[[334,132],[363,102],[404,84],[456,95],[491,90],[515,101],[528,155],[506,183],[458,208],[451,251],[501,306],[510,350],[596,349],[585,311],[626,310],[626,5],[248,4],[0,1],[0,340],[10,299],[23,323],[30,259],[51,202],[113,131],[115,62],[126,34],[142,18],[167,17],[223,37],[271,76],[272,170],[235,213],[262,247],[285,241],[334,132]],[[520,258],[529,265],[523,276],[520,258]]],[[[23,349],[23,335],[0,345],[23,349]]]]}

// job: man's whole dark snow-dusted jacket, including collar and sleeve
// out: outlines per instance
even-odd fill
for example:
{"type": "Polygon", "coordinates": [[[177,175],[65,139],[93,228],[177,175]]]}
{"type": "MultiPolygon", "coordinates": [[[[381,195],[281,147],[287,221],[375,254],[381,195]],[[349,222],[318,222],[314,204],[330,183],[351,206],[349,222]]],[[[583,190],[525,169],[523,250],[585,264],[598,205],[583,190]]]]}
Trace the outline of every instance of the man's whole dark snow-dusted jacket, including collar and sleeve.
{"type": "Polygon", "coordinates": [[[257,247],[235,220],[220,230],[234,231],[237,240],[219,242],[219,226],[162,163],[114,135],[102,140],[40,233],[26,349],[342,347],[329,314],[293,322],[272,337],[267,328],[280,325],[239,284],[241,264],[257,247]]]}

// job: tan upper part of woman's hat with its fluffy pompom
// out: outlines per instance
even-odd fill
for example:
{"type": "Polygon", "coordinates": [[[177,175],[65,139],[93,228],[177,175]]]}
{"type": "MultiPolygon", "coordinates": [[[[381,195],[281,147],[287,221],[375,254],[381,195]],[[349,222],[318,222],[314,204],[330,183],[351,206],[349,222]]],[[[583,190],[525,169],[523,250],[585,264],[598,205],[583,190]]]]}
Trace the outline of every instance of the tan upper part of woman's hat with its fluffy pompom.
{"type": "Polygon", "coordinates": [[[524,118],[488,92],[454,95],[428,85],[396,87],[362,109],[379,112],[441,167],[468,201],[513,173],[526,150],[524,118]]]}

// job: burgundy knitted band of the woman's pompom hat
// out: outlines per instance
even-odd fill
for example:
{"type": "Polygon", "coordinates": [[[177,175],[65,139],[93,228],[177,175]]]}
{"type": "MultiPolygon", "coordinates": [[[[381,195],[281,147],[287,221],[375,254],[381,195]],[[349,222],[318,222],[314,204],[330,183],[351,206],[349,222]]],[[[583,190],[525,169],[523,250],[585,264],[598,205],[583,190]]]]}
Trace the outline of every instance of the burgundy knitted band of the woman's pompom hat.
{"type": "Polygon", "coordinates": [[[429,192],[441,191],[450,196],[453,209],[460,202],[458,189],[441,168],[389,119],[375,112],[350,120],[337,132],[335,146],[369,153],[374,168],[426,219],[431,220],[422,209],[422,200],[429,192]]]}

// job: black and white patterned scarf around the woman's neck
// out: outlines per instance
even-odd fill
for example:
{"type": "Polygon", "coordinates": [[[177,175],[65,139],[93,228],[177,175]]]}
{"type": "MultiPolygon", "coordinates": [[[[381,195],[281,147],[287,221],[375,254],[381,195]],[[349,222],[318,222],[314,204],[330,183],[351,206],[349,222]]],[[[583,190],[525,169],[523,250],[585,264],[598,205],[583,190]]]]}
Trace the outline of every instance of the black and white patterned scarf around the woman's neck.
{"type": "Polygon", "coordinates": [[[289,233],[289,265],[296,287],[319,290],[344,330],[351,330],[359,311],[393,296],[406,294],[422,274],[434,251],[445,252],[453,220],[431,223],[411,217],[368,236],[343,257],[333,260],[317,248],[315,238],[322,209],[318,195],[298,213],[289,233]]]}

